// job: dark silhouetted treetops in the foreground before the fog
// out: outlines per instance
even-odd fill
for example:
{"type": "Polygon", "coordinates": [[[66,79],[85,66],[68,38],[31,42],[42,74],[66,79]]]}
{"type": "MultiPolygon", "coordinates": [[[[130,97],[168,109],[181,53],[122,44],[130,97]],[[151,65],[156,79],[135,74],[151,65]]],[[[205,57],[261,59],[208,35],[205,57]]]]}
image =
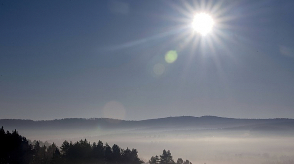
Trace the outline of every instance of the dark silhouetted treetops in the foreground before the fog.
{"type": "MultiPolygon", "coordinates": [[[[55,143],[41,145],[36,141],[30,144],[16,130],[10,133],[0,129],[0,164],[144,164],[138,157],[137,149],[122,149],[113,146],[90,143],[86,139],[78,142],[64,141],[60,147],[55,143]]],[[[149,164],[192,164],[179,158],[176,163],[170,150],[163,150],[160,156],[153,156],[149,164]]]]}

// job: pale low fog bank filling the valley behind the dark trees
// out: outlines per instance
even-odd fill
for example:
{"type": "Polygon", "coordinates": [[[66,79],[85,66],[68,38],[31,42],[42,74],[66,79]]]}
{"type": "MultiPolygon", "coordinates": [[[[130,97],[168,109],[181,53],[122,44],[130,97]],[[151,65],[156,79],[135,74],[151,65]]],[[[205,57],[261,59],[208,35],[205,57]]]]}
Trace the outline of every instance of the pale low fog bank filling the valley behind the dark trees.
{"type": "MultiPolygon", "coordinates": [[[[161,155],[163,149],[166,149],[171,151],[174,161],[182,158],[190,160],[193,164],[294,164],[294,136],[282,135],[278,132],[234,130],[144,132],[144,130],[138,130],[108,133],[94,136],[96,132],[88,131],[81,136],[81,133],[74,135],[74,132],[71,132],[66,137],[65,132],[51,131],[47,134],[34,135],[34,137],[29,135],[30,137],[27,138],[31,140],[47,138],[49,143],[54,142],[59,146],[65,140],[76,142],[86,138],[91,144],[101,140],[110,146],[118,144],[121,148],[136,148],[139,157],[145,162],[151,156],[161,155]],[[57,134],[61,133],[62,137],[58,137],[57,134]]],[[[22,134],[21,131],[20,134],[22,134]]]]}

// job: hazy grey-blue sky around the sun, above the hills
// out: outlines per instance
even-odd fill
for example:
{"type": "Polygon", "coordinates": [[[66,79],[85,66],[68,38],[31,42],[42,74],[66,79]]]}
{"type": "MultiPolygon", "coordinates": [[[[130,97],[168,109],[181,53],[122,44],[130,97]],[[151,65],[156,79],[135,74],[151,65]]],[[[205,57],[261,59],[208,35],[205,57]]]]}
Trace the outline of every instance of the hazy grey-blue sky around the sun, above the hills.
{"type": "Polygon", "coordinates": [[[0,119],[294,118],[293,9],[293,0],[0,0],[0,119]],[[199,12],[215,21],[206,36],[191,28],[199,12]]]}

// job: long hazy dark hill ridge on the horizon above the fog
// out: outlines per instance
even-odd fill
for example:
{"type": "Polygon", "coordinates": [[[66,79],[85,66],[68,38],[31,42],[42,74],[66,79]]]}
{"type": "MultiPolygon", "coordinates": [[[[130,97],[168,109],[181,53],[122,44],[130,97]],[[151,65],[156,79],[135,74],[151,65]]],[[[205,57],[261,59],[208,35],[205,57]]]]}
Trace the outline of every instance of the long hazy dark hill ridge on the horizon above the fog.
{"type": "Polygon", "coordinates": [[[69,118],[49,121],[32,121],[17,119],[1,119],[0,126],[5,129],[32,130],[75,130],[95,129],[247,129],[247,130],[276,130],[294,129],[294,119],[233,119],[216,116],[181,116],[141,121],[125,121],[108,118],[69,118]]]}

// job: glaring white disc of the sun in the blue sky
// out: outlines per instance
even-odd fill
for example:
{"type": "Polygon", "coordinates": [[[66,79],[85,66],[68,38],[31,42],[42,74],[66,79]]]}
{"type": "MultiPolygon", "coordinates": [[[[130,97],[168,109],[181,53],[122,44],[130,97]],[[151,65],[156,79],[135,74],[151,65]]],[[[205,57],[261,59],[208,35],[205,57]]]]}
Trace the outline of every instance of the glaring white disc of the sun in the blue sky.
{"type": "Polygon", "coordinates": [[[206,13],[196,14],[192,22],[193,29],[203,36],[205,36],[212,30],[213,25],[214,21],[212,17],[206,13]]]}

